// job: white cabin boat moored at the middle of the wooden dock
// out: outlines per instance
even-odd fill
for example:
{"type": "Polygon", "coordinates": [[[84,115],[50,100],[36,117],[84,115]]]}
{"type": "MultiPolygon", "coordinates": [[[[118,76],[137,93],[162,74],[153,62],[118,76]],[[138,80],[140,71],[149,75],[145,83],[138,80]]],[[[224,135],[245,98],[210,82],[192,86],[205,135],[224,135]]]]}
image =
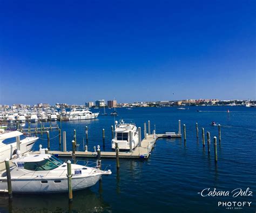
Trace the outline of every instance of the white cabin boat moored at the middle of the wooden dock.
{"type": "Polygon", "coordinates": [[[132,142],[132,149],[137,147],[139,143],[138,130],[134,122],[124,121],[123,119],[116,121],[114,129],[114,138],[112,139],[112,149],[116,148],[116,142],[118,142],[119,149],[130,149],[130,140],[132,142]],[[131,139],[129,132],[131,131],[131,139]]]}

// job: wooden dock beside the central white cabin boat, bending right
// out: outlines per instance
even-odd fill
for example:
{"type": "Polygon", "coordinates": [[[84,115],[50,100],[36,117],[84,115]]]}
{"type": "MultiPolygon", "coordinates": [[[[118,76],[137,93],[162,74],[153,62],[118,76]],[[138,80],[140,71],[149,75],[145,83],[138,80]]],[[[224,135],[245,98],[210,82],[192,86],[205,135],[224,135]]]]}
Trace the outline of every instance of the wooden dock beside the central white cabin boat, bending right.
{"type": "MultiPolygon", "coordinates": [[[[147,159],[150,156],[151,150],[154,147],[158,138],[181,138],[181,134],[151,134],[147,135],[146,139],[144,138],[141,142],[141,146],[137,146],[132,152],[120,152],[119,158],[123,159],[147,159]]],[[[39,152],[35,152],[39,153],[39,152]]],[[[58,155],[59,157],[72,157],[72,151],[70,152],[61,152],[61,151],[51,151],[49,150],[49,154],[58,155]]],[[[89,158],[89,157],[97,157],[97,152],[75,152],[75,156],[78,158],[89,158]]],[[[116,152],[100,152],[100,156],[102,158],[116,158],[116,152]]]]}

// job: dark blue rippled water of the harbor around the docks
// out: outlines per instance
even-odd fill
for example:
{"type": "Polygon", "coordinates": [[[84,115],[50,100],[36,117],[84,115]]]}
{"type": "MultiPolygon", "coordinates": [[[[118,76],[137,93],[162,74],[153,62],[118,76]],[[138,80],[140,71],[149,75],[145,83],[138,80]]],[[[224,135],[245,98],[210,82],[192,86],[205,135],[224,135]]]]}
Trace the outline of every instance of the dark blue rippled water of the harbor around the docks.
{"type": "MultiPolygon", "coordinates": [[[[95,109],[99,111],[101,109],[95,109]]],[[[247,107],[189,107],[179,111],[174,107],[117,109],[118,119],[133,119],[138,127],[147,120],[151,130],[156,125],[157,133],[178,132],[178,120],[186,124],[186,146],[183,139],[159,139],[147,160],[103,159],[110,164],[112,175],[104,176],[102,182],[90,189],[75,191],[69,206],[68,194],[15,195],[8,206],[8,198],[0,197],[2,211],[12,208],[16,212],[255,212],[256,210],[256,108],[247,107]],[[227,109],[230,113],[227,113],[227,109]],[[204,112],[197,112],[197,110],[204,112]],[[210,126],[215,121],[221,124],[221,144],[218,142],[218,163],[214,163],[213,136],[218,138],[218,127],[210,126]],[[196,122],[199,140],[196,137],[196,122]],[[203,148],[201,128],[211,133],[211,153],[203,148]],[[205,188],[232,191],[250,188],[253,196],[233,198],[230,196],[201,197],[205,188]],[[251,207],[226,209],[218,202],[246,201],[251,207]]],[[[106,109],[110,114],[111,110],[106,109]]],[[[77,132],[79,150],[83,150],[85,126],[89,127],[89,150],[100,145],[103,150],[102,129],[105,129],[105,150],[111,150],[112,116],[99,116],[90,121],[62,122],[66,131],[67,149],[71,150],[73,129],[77,132]]],[[[52,125],[56,125],[57,122],[52,125]]],[[[60,124],[59,124],[60,125],[60,124]]],[[[182,126],[181,125],[181,126],[182,126]]],[[[39,126],[39,125],[38,125],[39,126]]],[[[49,126],[49,123],[45,123],[49,126]]],[[[181,131],[183,133],[183,131],[181,131]]],[[[50,132],[50,138],[57,135],[50,132]]],[[[46,135],[34,146],[47,146],[46,135]]],[[[205,136],[206,138],[206,136],[205,136]]],[[[86,144],[86,141],[85,141],[86,144]]],[[[51,140],[51,150],[59,150],[58,137],[51,140]]],[[[92,159],[89,159],[92,160],[92,159]]]]}

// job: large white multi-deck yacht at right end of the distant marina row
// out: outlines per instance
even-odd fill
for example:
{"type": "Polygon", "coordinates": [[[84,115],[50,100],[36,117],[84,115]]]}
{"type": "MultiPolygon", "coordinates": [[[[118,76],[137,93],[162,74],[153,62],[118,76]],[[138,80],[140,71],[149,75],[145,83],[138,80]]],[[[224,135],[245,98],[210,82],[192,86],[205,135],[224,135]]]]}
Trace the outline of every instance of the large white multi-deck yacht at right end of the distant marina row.
{"type": "Polygon", "coordinates": [[[99,113],[92,113],[89,109],[82,109],[82,108],[73,108],[69,114],[68,118],[70,121],[75,120],[89,120],[97,118],[99,113]]]}

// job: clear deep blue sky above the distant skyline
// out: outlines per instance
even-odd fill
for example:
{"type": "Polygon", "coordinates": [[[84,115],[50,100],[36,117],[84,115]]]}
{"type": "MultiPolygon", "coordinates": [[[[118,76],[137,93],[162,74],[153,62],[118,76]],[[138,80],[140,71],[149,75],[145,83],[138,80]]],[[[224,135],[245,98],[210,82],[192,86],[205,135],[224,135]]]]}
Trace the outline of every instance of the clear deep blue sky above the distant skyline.
{"type": "Polygon", "coordinates": [[[0,104],[255,100],[255,6],[0,0],[0,104]]]}

